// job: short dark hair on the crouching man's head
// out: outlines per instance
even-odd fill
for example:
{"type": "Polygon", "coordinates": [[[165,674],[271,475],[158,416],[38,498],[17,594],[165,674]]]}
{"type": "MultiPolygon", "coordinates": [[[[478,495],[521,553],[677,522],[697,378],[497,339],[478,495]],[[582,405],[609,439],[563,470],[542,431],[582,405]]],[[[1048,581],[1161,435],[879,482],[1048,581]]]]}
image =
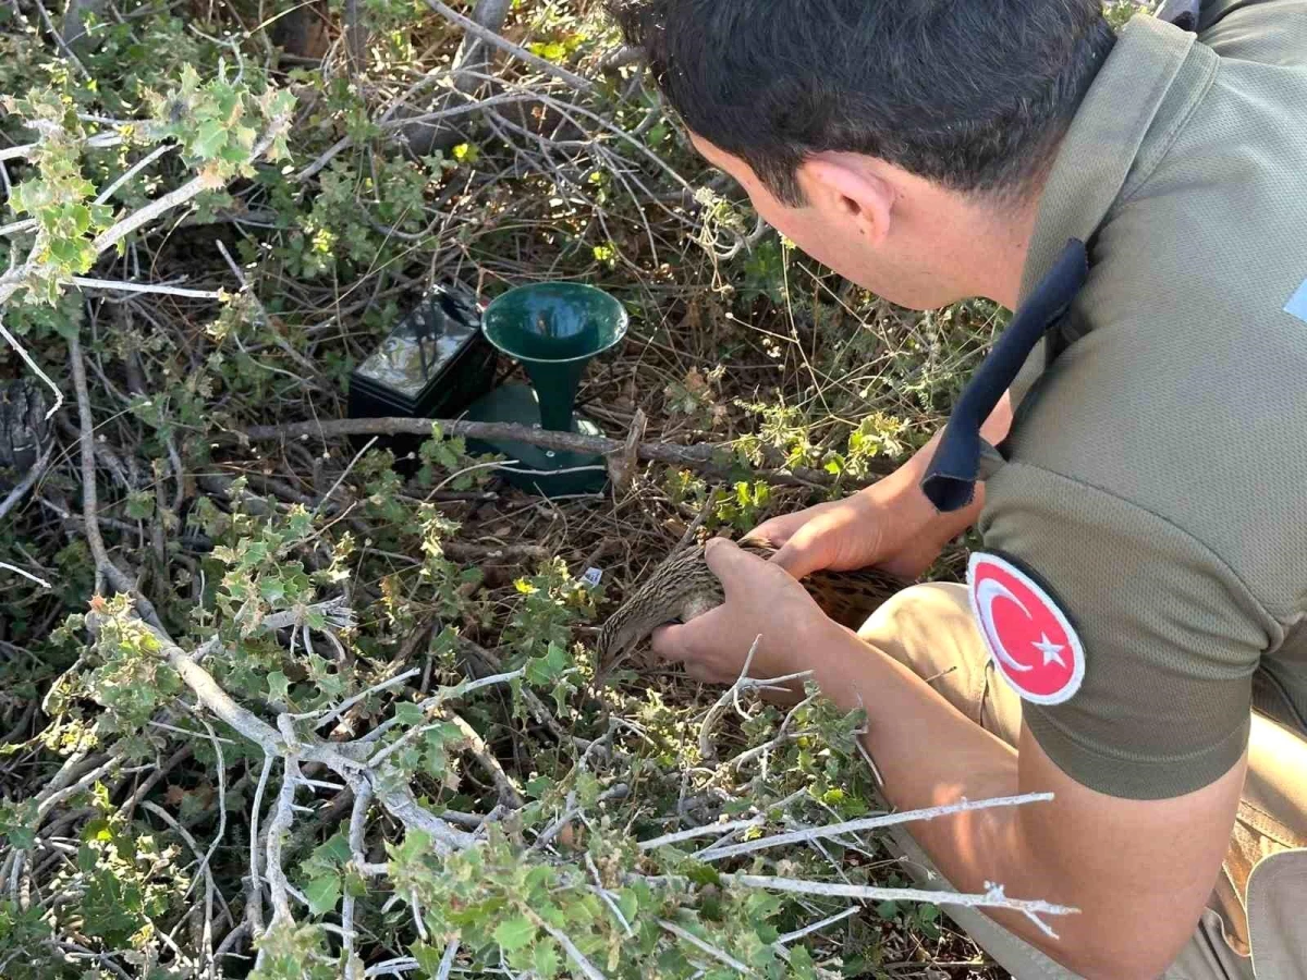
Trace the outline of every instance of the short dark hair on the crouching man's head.
{"type": "Polygon", "coordinates": [[[825,150],[957,191],[1040,172],[1115,41],[1100,0],[610,0],[685,124],[780,200],[825,150]]]}

